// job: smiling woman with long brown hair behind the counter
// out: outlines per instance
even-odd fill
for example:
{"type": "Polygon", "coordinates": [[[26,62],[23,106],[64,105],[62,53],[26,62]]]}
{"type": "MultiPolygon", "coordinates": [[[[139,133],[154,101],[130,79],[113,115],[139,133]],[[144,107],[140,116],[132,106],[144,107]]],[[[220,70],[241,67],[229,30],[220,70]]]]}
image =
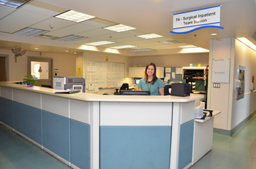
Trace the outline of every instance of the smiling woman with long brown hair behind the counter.
{"type": "Polygon", "coordinates": [[[151,95],[164,95],[165,85],[157,78],[157,68],[154,63],[148,63],[145,69],[145,77],[140,80],[138,90],[150,90],[151,95]]]}

